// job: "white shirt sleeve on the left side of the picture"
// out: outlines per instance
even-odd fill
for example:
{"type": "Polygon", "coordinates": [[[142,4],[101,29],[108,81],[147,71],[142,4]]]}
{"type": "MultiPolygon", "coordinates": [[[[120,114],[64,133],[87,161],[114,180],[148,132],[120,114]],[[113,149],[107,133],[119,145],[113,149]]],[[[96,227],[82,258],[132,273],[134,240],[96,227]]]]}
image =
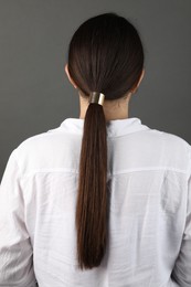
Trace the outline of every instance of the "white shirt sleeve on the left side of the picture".
{"type": "Polygon", "coordinates": [[[36,286],[15,150],[0,184],[0,286],[36,286]]]}

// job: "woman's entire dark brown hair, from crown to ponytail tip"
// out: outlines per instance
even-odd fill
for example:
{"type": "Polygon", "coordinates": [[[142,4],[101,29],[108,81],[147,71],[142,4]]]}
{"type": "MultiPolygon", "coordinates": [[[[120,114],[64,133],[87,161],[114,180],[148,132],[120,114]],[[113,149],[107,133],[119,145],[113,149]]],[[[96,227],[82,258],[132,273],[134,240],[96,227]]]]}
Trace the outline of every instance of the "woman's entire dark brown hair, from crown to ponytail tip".
{"type": "MultiPolygon", "coordinates": [[[[81,95],[99,92],[105,99],[127,95],[139,82],[144,49],[135,26],[116,13],[86,20],[68,47],[68,73],[81,95]]],[[[102,105],[88,105],[82,138],[76,202],[77,262],[98,267],[108,241],[107,129],[102,105]]]]}

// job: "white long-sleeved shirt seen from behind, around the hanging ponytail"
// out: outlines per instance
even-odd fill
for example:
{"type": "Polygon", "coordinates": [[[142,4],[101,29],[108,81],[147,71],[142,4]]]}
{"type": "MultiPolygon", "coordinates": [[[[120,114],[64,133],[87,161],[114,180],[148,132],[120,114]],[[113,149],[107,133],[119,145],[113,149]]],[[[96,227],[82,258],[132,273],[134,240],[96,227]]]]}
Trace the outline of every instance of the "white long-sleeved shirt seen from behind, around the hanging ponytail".
{"type": "Polygon", "coordinates": [[[11,153],[0,190],[0,286],[190,287],[191,146],[139,118],[107,124],[107,251],[99,267],[77,269],[83,125],[67,118],[11,153]]]}

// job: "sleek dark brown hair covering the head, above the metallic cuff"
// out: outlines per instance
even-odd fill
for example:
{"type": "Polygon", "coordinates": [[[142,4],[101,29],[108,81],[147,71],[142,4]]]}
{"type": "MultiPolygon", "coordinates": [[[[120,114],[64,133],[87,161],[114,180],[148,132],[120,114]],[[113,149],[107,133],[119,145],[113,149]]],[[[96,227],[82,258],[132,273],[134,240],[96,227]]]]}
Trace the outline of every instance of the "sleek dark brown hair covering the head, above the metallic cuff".
{"type": "Polygon", "coordinates": [[[114,100],[134,91],[144,68],[144,49],[134,25],[115,13],[85,21],[68,47],[68,73],[82,95],[114,100]]]}

